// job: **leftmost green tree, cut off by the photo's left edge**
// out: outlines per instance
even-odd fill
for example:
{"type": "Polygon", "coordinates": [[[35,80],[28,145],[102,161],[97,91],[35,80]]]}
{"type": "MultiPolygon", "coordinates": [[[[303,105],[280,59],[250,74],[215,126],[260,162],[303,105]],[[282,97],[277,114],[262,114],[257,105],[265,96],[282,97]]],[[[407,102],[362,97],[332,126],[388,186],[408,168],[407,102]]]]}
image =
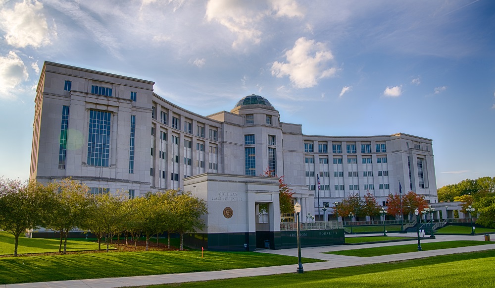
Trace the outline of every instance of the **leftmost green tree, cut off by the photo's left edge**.
{"type": "Polygon", "coordinates": [[[48,191],[32,180],[21,182],[0,178],[0,229],[14,235],[14,256],[19,236],[28,229],[44,226],[48,191]]]}

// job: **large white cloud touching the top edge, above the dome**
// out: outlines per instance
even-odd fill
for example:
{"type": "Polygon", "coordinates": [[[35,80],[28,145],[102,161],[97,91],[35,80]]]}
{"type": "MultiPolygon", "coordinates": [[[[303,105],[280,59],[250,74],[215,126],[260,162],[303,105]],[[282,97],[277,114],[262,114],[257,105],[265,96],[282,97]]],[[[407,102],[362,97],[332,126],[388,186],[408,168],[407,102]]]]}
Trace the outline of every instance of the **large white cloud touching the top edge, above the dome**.
{"type": "Polygon", "coordinates": [[[233,48],[239,48],[244,43],[259,44],[263,32],[263,19],[272,16],[302,17],[302,10],[294,0],[209,0],[206,4],[206,20],[215,20],[225,26],[237,39],[232,43],[233,48]]]}

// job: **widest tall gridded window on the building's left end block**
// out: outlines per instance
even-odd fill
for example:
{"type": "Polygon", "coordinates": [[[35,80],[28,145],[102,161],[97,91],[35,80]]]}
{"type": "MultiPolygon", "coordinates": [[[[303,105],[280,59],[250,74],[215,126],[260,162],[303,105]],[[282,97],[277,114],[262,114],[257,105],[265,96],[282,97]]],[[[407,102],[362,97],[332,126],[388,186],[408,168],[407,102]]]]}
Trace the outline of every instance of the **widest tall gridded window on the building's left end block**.
{"type": "Polygon", "coordinates": [[[108,167],[111,113],[90,110],[88,165],[108,167]]]}

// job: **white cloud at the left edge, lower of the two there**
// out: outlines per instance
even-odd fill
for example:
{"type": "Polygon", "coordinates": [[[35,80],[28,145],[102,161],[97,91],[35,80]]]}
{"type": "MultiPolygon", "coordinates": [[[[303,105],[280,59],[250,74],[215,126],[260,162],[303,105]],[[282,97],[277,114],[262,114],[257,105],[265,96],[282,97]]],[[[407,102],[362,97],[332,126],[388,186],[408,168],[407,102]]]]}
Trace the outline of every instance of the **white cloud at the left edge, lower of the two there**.
{"type": "Polygon", "coordinates": [[[15,98],[12,90],[28,78],[27,67],[15,52],[0,56],[0,99],[15,98]]]}

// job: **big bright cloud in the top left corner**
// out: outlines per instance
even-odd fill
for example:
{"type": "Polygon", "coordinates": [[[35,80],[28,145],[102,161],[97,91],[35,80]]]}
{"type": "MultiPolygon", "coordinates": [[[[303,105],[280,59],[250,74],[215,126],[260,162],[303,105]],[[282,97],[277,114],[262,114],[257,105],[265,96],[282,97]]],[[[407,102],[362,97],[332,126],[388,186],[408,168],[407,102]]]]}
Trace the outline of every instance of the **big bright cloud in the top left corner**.
{"type": "Polygon", "coordinates": [[[42,12],[43,4],[24,0],[14,8],[0,10],[0,28],[5,31],[7,44],[24,48],[38,48],[50,44],[47,18],[42,12]]]}

